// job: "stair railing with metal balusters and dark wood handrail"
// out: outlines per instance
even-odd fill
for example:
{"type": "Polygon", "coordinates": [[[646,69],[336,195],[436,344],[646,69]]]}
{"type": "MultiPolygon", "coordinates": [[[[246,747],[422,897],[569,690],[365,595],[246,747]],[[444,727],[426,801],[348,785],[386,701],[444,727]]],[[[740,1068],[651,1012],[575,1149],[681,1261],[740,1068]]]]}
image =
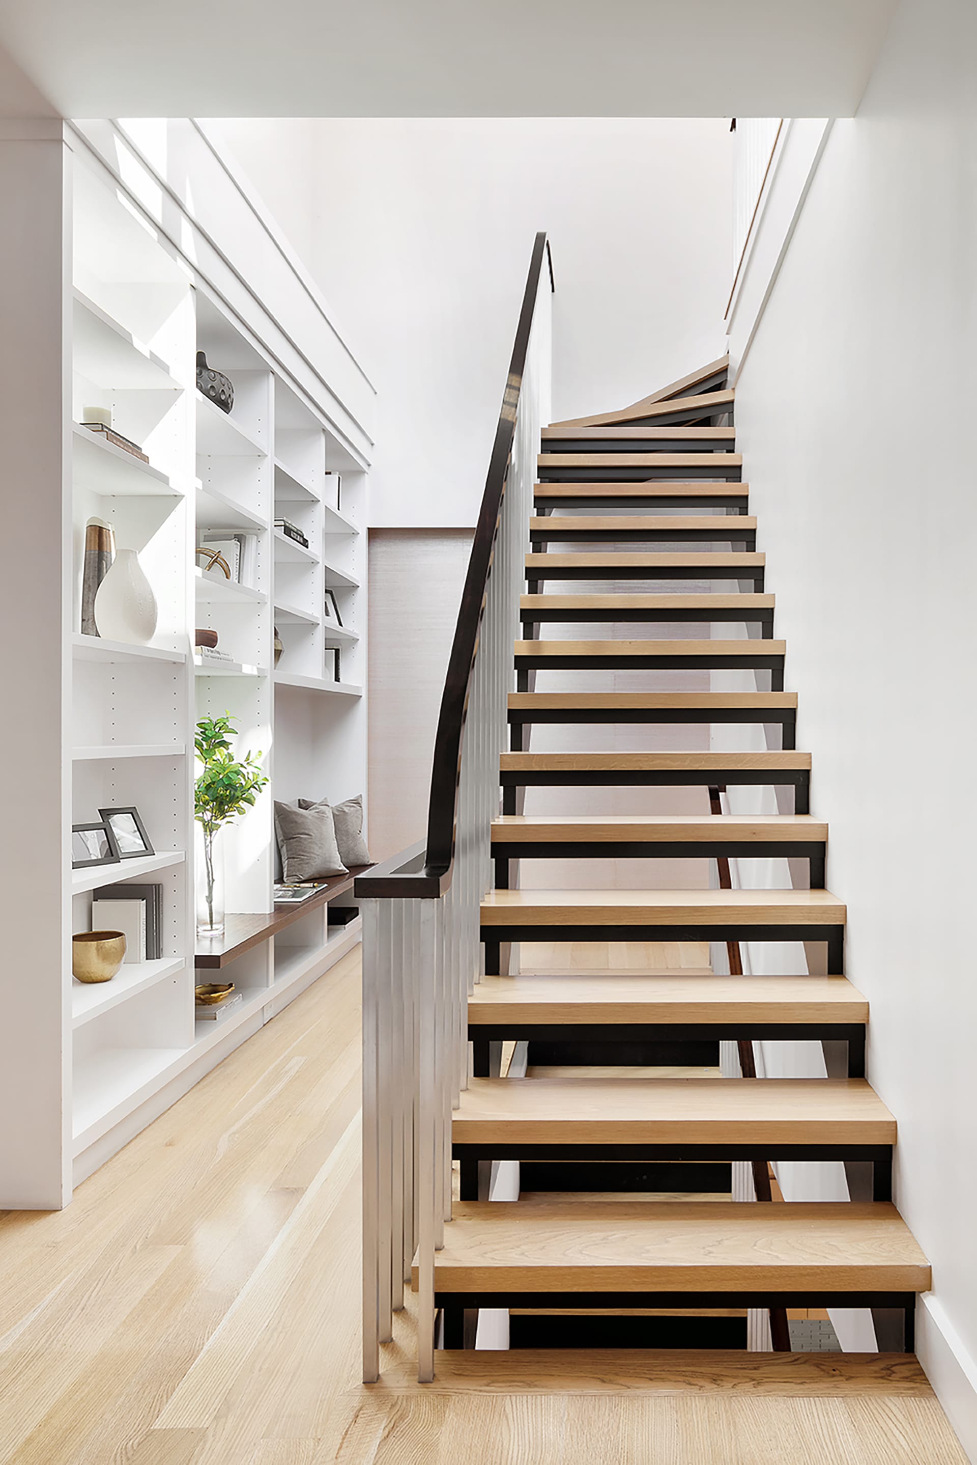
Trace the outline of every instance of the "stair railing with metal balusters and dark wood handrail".
{"type": "Polygon", "coordinates": [[[540,428],[551,419],[552,261],[536,234],[448,661],[428,835],[360,875],[363,908],[363,1380],[417,1270],[417,1379],[434,1377],[435,1253],[451,1219],[451,1110],[492,885],[513,645],[540,428]]]}

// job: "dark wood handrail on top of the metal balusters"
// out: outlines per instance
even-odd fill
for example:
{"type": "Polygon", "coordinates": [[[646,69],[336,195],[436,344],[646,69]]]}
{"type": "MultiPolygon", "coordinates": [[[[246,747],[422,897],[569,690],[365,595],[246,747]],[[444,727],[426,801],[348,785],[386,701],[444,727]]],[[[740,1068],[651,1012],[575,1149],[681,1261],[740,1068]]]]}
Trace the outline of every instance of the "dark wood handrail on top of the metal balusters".
{"type": "Polygon", "coordinates": [[[533,255],[523,293],[523,306],[516,328],[516,344],[508,365],[502,410],[499,412],[492,456],[489,457],[485,492],[479,508],[469,568],[461,590],[461,605],[454,628],[448,671],[441,697],[441,713],[434,743],[434,765],[431,769],[431,801],[428,804],[428,837],[420,845],[413,845],[382,864],[374,866],[369,875],[360,875],[354,894],[363,898],[432,898],[442,895],[451,885],[454,867],[454,832],[457,820],[458,775],[461,769],[461,747],[464,722],[472,687],[472,670],[479,643],[479,627],[485,609],[485,593],[492,549],[498,533],[505,478],[516,438],[519,396],[526,371],[529,337],[533,327],[533,312],[543,261],[549,267],[549,287],[554,286],[552,256],[545,233],[536,234],[533,255]],[[423,856],[423,858],[422,858],[423,856]]]}

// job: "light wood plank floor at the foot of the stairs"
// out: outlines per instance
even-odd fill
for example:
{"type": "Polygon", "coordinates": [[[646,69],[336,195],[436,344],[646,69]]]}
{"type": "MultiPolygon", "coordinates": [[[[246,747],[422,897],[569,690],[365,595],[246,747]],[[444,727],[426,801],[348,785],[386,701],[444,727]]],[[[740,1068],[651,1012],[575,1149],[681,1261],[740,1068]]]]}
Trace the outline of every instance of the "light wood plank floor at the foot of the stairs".
{"type": "Polygon", "coordinates": [[[352,955],[67,1210],[0,1214],[3,1465],[965,1462],[895,1357],[469,1354],[419,1386],[404,1314],[363,1387],[357,1110],[352,955]]]}

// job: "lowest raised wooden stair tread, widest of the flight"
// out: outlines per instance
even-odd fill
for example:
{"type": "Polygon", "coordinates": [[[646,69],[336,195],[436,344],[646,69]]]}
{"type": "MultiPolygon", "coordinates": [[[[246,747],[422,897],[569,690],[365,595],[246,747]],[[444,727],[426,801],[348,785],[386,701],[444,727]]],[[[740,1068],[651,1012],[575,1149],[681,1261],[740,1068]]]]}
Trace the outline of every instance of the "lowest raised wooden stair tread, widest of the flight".
{"type": "Polygon", "coordinates": [[[438,1292],[924,1292],[930,1266],[888,1203],[467,1201],[438,1292]]]}

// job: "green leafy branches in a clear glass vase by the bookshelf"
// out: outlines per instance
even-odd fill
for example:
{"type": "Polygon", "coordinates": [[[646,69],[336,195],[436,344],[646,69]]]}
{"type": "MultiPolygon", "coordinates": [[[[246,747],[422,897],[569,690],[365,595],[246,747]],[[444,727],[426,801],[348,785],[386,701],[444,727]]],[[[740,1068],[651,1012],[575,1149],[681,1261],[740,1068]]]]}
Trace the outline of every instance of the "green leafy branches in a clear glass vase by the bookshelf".
{"type": "Polygon", "coordinates": [[[196,929],[202,936],[224,930],[223,848],[217,835],[253,806],[268,782],[258,763],[261,753],[234,759],[230,738],[236,732],[234,719],[226,712],[223,718],[201,718],[193,738],[204,765],[193,785],[193,817],[201,828],[196,929]]]}

